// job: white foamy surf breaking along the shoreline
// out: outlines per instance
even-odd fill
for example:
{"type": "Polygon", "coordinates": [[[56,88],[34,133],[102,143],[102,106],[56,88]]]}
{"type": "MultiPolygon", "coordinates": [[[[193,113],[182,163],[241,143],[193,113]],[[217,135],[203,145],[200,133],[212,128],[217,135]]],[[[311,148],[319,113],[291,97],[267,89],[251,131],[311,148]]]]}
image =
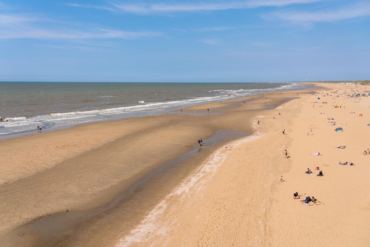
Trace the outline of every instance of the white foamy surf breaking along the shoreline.
{"type": "MultiPolygon", "coordinates": [[[[276,85],[276,84],[275,84],[276,85]]],[[[86,110],[86,111],[78,111],[78,112],[55,112],[47,115],[39,115],[33,117],[15,117],[15,118],[8,118],[9,122],[0,122],[0,135],[12,132],[20,132],[20,131],[29,131],[34,130],[37,125],[42,125],[44,128],[54,127],[54,126],[61,126],[61,125],[69,125],[69,124],[80,124],[83,122],[88,121],[97,121],[97,120],[104,120],[110,118],[112,116],[120,116],[125,114],[125,116],[129,117],[131,115],[127,115],[135,113],[132,116],[147,116],[158,114],[158,106],[161,108],[166,109],[176,109],[182,108],[185,106],[195,105],[195,104],[202,104],[206,102],[217,102],[220,100],[226,100],[231,98],[236,98],[240,95],[250,95],[250,94],[259,94],[265,93],[267,91],[282,91],[294,88],[297,84],[289,84],[289,85],[280,85],[275,87],[274,84],[271,84],[270,88],[265,89],[216,89],[208,92],[212,92],[212,96],[204,96],[204,97],[183,97],[181,99],[173,100],[172,98],[166,99],[159,99],[160,102],[145,102],[145,101],[137,101],[132,105],[117,105],[117,104],[104,104],[105,107],[109,108],[100,108],[94,110],[86,110]],[[143,104],[145,103],[145,104],[143,104]],[[11,120],[11,121],[10,121],[11,120]]],[[[145,98],[141,94],[141,97],[145,98]]],[[[149,95],[149,94],[148,94],[149,95]]],[[[114,96],[105,95],[99,96],[103,100],[104,98],[109,99],[114,96]]],[[[155,100],[155,98],[150,98],[148,101],[155,100]]],[[[157,99],[158,100],[158,99],[157,99]]],[[[94,107],[94,106],[92,106],[94,107]]],[[[99,105],[95,105],[95,107],[99,107],[99,105]]]]}

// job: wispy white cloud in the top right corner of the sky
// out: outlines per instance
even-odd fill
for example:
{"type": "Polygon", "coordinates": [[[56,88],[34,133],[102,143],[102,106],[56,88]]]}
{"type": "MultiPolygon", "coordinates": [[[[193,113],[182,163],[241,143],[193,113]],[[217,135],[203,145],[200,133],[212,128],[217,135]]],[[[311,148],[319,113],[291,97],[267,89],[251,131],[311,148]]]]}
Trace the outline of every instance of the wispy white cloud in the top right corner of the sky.
{"type": "Polygon", "coordinates": [[[277,11],[263,15],[266,19],[279,18],[296,23],[332,22],[356,17],[370,16],[370,3],[358,3],[336,10],[322,10],[315,12],[277,11]]]}

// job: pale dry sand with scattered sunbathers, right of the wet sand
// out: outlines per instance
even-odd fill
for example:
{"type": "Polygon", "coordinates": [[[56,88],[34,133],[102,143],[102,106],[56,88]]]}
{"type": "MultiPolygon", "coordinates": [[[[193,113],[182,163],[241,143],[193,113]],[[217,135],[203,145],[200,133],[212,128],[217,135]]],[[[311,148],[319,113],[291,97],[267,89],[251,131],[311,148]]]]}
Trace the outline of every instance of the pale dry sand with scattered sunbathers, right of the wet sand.
{"type": "MultiPolygon", "coordinates": [[[[339,92],[352,87],[324,86],[339,92]]],[[[370,156],[361,152],[370,145],[370,98],[320,98],[328,104],[313,107],[309,102],[319,101],[317,95],[303,94],[250,119],[254,136],[229,143],[205,160],[117,246],[369,246],[370,156]],[[328,125],[328,116],[337,126],[328,125]],[[261,125],[255,125],[257,119],[261,125]],[[335,132],[341,123],[344,132],[335,132]],[[313,135],[307,136],[310,129],[313,135]],[[335,148],[340,145],[347,148],[335,148]],[[285,149],[289,159],[283,159],[285,149]],[[323,155],[310,155],[317,152],[323,155]],[[342,166],[338,160],[356,165],[342,166]],[[316,176],[316,166],[324,176],[316,176]],[[307,168],[314,173],[305,174],[307,168]],[[191,179],[199,174],[201,179],[191,179]],[[324,204],[301,204],[293,199],[295,192],[324,204]]]]}

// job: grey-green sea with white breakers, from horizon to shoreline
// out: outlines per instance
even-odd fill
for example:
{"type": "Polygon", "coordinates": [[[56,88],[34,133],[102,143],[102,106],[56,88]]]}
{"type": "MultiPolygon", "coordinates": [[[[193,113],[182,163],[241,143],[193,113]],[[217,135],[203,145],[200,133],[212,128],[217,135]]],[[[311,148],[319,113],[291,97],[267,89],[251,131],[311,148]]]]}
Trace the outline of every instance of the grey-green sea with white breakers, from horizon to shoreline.
{"type": "Polygon", "coordinates": [[[158,115],[207,102],[297,89],[304,88],[302,84],[283,82],[0,82],[0,137],[33,133],[37,125],[45,131],[92,121],[158,115]]]}

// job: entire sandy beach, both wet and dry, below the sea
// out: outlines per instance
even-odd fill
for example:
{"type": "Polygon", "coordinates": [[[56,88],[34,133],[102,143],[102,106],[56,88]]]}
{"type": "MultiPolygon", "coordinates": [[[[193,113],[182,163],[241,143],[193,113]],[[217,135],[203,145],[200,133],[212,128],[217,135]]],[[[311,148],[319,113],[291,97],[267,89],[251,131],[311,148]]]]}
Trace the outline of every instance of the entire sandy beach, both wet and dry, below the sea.
{"type": "Polygon", "coordinates": [[[369,246],[370,156],[362,152],[370,148],[370,98],[342,92],[369,86],[317,86],[327,89],[1,140],[0,239],[4,246],[369,246]],[[295,192],[323,204],[301,204],[295,192]]]}

